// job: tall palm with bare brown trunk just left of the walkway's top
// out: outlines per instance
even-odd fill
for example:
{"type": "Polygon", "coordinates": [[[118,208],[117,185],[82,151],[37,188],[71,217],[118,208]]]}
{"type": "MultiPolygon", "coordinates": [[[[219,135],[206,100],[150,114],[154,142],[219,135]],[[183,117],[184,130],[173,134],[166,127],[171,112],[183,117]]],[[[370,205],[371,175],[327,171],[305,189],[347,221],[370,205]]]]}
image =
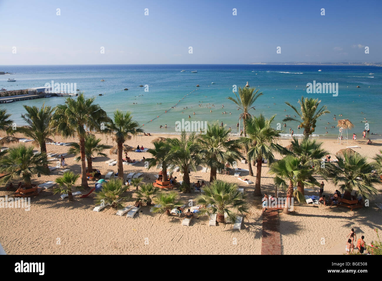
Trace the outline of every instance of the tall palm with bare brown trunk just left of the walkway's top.
{"type": "Polygon", "coordinates": [[[284,149],[277,143],[282,130],[272,128],[272,121],[276,115],[270,119],[260,114],[246,120],[246,131],[248,137],[241,138],[241,142],[248,146],[248,161],[257,160],[255,196],[261,196],[261,167],[262,159],[268,159],[269,163],[274,162],[274,151],[282,152],[284,149]]]}

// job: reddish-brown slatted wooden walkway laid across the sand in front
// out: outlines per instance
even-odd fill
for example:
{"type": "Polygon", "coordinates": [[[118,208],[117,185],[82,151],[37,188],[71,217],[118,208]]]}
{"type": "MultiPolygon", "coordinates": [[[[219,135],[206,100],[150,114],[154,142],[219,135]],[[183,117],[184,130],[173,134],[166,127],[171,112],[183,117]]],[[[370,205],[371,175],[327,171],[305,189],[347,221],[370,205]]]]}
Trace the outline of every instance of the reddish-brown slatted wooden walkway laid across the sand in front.
{"type": "Polygon", "coordinates": [[[262,213],[261,255],[281,255],[280,220],[277,210],[262,213]]]}

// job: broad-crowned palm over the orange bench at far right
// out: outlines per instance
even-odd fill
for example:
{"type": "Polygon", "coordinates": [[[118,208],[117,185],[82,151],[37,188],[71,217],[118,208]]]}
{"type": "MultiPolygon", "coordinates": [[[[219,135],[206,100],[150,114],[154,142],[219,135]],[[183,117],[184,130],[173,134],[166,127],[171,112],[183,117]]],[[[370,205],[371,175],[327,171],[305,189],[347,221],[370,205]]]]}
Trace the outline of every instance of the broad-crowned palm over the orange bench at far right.
{"type": "Polygon", "coordinates": [[[356,190],[363,198],[373,198],[378,194],[374,184],[380,180],[374,177],[372,170],[374,166],[367,162],[366,156],[358,153],[343,153],[336,155],[338,167],[333,176],[333,183],[339,185],[344,192],[344,199],[351,200],[351,192],[356,190]]]}

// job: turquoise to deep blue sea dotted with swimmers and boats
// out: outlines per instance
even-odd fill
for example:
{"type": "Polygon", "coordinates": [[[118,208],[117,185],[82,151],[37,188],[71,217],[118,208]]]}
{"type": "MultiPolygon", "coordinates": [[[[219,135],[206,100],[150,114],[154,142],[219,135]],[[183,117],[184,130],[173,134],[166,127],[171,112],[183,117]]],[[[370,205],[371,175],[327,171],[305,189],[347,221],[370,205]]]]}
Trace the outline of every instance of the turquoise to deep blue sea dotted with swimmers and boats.
{"type": "MultiPolygon", "coordinates": [[[[301,96],[319,98],[328,107],[330,114],[317,122],[315,134],[320,137],[338,136],[338,119],[350,119],[355,128],[349,131],[361,138],[365,119],[370,133],[382,133],[382,68],[372,66],[324,66],[324,65],[40,65],[0,66],[0,71],[12,72],[0,75],[0,88],[7,90],[27,89],[51,83],[76,83],[77,89],[87,97],[95,96],[109,115],[115,109],[131,110],[134,119],[150,133],[176,133],[175,122],[182,118],[191,121],[223,122],[236,132],[239,112],[233,102],[233,85],[245,86],[248,81],[264,93],[256,101],[256,110],[251,114],[264,113],[267,117],[277,114],[274,126],[283,123],[286,114],[295,115],[285,101],[297,106],[301,96]],[[318,71],[321,69],[322,71],[318,71]],[[186,70],[186,72],[180,72],[186,70]],[[197,70],[197,73],[191,71],[197,70]],[[369,73],[374,73],[369,75],[369,73]],[[6,82],[15,78],[16,82],[6,82]],[[104,79],[104,82],[100,80],[104,79]],[[332,94],[308,94],[306,84],[338,83],[338,96],[332,94]],[[214,82],[214,84],[212,84],[214,82]],[[148,92],[145,87],[149,85],[148,92]],[[200,87],[196,87],[199,84],[200,87]],[[357,88],[360,86],[360,88],[357,88]],[[123,91],[129,88],[128,91],[123,91]],[[99,96],[103,94],[103,96],[99,96]],[[161,103],[161,104],[159,104],[161,103]],[[274,105],[275,103],[275,105],[274,105]],[[177,105],[176,105],[177,104],[177,105]],[[199,107],[199,104],[202,104],[199,107]],[[214,106],[212,106],[214,104],[214,106]],[[224,108],[222,108],[224,105],[224,108]],[[172,108],[176,106],[176,108],[172,108]],[[207,107],[212,107],[211,109],[207,107]],[[188,107],[187,109],[183,109],[188,107]],[[192,108],[191,108],[192,107],[192,108]],[[286,110],[285,110],[286,109],[286,110]],[[167,113],[165,113],[167,110],[167,113]],[[212,112],[210,112],[212,110],[212,112]],[[222,114],[222,112],[228,114],[222,114]],[[182,113],[183,112],[183,113],[182,113]],[[195,112],[195,115],[193,114],[195,112]],[[230,114],[231,112],[231,114],[230,114]],[[361,112],[364,112],[363,114],[361,112]],[[342,114],[342,116],[339,116],[342,114]],[[191,118],[188,118],[188,116],[191,118]],[[157,117],[159,116],[159,117],[157,117]],[[151,121],[152,120],[152,121],[151,121]],[[329,124],[327,124],[329,122],[329,124]],[[160,125],[167,128],[159,128],[160,125]],[[327,127],[327,129],[325,129],[327,127]],[[328,132],[326,134],[326,132],[328,132]]],[[[50,97],[28,101],[0,104],[11,112],[13,120],[22,124],[20,115],[23,104],[41,106],[43,102],[55,106],[65,97],[50,97]]],[[[297,122],[287,122],[295,135],[297,122]]],[[[372,136],[377,138],[379,136],[372,136]]]]}

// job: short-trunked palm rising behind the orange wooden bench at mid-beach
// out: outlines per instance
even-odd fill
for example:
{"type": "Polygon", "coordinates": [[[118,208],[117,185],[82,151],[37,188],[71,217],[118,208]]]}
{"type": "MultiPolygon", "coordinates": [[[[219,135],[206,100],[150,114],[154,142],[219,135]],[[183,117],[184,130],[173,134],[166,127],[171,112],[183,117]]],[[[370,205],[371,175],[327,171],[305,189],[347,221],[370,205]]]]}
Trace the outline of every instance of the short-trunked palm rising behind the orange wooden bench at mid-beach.
{"type": "Polygon", "coordinates": [[[149,169],[162,165],[162,182],[165,182],[167,181],[167,166],[170,161],[168,153],[171,147],[167,140],[154,141],[153,144],[154,148],[147,150],[148,153],[151,153],[152,158],[146,158],[146,161],[149,162],[149,169]]]}

